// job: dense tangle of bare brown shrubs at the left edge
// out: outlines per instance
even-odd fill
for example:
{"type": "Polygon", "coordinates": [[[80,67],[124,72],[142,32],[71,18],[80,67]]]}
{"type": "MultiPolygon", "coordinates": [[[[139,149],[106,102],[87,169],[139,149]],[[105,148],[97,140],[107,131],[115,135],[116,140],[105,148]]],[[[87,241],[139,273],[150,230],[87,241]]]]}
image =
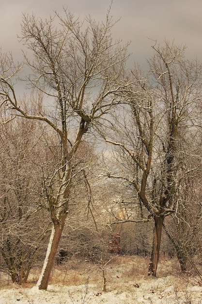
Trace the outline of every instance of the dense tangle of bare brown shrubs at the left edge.
{"type": "Polygon", "coordinates": [[[36,133],[34,121],[20,118],[0,126],[0,270],[19,284],[47,244],[47,216],[35,204],[41,187],[36,162],[43,158],[36,133]]]}

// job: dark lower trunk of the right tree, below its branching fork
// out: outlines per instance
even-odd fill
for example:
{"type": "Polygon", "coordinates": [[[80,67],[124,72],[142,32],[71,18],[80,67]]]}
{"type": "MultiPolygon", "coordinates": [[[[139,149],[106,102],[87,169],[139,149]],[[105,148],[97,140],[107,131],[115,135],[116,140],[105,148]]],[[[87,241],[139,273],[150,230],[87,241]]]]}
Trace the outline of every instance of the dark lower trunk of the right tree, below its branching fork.
{"type": "Polygon", "coordinates": [[[154,239],[152,245],[152,253],[150,257],[148,275],[156,276],[164,216],[155,216],[154,220],[155,220],[154,239]]]}

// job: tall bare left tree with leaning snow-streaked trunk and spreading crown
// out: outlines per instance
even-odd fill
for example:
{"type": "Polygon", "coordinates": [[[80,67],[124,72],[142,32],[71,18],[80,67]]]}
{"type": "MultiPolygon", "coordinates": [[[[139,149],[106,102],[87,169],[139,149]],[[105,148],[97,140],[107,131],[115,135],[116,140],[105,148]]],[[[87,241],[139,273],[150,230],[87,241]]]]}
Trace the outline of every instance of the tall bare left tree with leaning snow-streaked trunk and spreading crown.
{"type": "Polygon", "coordinates": [[[109,12],[101,23],[91,17],[79,20],[67,11],[64,18],[56,13],[45,21],[24,16],[21,41],[28,49],[25,63],[32,70],[27,77],[28,87],[47,96],[49,111],[40,94],[37,101],[28,101],[26,106],[20,103],[14,85],[20,66],[13,64],[12,57],[1,55],[1,104],[6,104],[14,115],[46,123],[61,145],[60,163],[52,168],[51,175],[44,175],[44,198],[53,226],[37,283],[40,289],[47,289],[75,179],[88,166],[83,154],[80,158],[82,142],[120,101],[118,92],[126,86],[123,75],[127,46],[113,41],[113,26],[109,12]],[[53,182],[54,178],[57,182],[53,182]]]}

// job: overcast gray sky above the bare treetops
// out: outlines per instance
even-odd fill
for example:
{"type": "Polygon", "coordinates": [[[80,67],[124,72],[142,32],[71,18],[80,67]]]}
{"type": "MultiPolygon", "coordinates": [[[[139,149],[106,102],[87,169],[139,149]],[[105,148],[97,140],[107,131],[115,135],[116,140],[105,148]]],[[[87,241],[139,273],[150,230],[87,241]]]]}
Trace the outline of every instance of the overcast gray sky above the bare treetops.
{"type": "MultiPolygon", "coordinates": [[[[20,58],[22,13],[49,17],[54,10],[62,13],[67,7],[76,16],[91,15],[97,20],[106,16],[110,0],[0,0],[0,46],[20,58]]],[[[145,58],[153,52],[152,41],[162,44],[164,39],[186,44],[186,56],[202,61],[202,0],[113,0],[111,15],[121,20],[114,28],[114,36],[124,42],[131,40],[131,61],[145,68],[145,58]],[[150,38],[150,39],[149,39],[150,38]]]]}

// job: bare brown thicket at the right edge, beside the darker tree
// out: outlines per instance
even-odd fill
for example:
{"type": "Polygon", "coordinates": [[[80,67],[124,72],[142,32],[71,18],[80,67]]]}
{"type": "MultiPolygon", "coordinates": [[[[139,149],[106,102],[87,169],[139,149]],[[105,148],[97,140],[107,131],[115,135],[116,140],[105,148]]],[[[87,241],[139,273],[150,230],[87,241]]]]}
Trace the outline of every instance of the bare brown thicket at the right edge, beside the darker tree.
{"type": "Polygon", "coordinates": [[[190,271],[190,267],[193,269],[202,259],[200,147],[201,135],[192,128],[180,144],[181,169],[177,176],[175,214],[164,223],[164,230],[176,249],[183,272],[190,271]]]}

